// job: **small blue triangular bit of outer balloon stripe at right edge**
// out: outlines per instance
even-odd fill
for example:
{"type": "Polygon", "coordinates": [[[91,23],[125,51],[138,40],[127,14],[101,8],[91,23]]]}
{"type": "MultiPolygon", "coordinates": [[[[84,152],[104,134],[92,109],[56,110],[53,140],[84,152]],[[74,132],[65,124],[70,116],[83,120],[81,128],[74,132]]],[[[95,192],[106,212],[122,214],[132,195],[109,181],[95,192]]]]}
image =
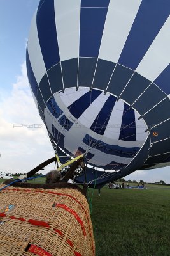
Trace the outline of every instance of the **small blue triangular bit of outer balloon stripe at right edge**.
{"type": "Polygon", "coordinates": [[[154,83],[157,84],[166,94],[170,93],[170,64],[162,71],[159,77],[155,79],[154,83]]]}

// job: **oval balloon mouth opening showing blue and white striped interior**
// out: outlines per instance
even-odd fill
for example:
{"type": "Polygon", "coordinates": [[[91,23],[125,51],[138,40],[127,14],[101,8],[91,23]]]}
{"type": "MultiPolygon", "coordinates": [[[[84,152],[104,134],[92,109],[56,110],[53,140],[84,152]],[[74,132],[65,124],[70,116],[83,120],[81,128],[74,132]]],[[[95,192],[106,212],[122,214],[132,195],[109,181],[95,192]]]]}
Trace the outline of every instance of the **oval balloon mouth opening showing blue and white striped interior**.
{"type": "Polygon", "coordinates": [[[127,166],[148,137],[148,127],[135,109],[97,88],[54,93],[44,115],[55,147],[69,155],[87,152],[87,163],[102,170],[127,166]]]}

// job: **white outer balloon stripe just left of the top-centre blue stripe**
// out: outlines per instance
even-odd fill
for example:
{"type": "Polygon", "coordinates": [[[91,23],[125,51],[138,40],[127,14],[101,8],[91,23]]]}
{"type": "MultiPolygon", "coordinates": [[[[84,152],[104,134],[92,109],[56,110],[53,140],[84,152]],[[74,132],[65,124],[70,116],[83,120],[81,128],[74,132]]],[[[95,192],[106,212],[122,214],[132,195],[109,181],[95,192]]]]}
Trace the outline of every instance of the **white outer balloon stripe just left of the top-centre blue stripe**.
{"type": "Polygon", "coordinates": [[[80,0],[55,0],[55,23],[60,61],[79,56],[80,0]]]}

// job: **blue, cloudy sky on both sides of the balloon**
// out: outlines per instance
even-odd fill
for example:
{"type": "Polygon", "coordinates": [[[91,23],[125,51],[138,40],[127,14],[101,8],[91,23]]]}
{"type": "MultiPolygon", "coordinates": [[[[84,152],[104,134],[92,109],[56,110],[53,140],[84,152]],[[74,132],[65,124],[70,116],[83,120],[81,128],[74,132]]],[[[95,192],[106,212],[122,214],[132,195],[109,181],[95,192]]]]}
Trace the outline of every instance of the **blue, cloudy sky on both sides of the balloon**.
{"type": "MultiPolygon", "coordinates": [[[[39,0],[0,0],[0,172],[26,173],[54,156],[32,99],[25,65],[27,37],[39,0]]],[[[50,164],[41,173],[54,167],[50,164]]],[[[125,180],[170,184],[170,167],[136,171],[125,180]]]]}

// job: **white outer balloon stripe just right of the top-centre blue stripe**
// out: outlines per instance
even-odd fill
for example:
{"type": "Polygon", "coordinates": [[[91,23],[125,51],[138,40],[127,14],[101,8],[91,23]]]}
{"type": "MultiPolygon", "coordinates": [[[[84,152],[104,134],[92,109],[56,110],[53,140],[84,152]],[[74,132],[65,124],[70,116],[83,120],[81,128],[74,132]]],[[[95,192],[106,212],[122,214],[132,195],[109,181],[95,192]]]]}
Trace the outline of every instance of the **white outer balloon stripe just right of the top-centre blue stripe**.
{"type": "Polygon", "coordinates": [[[110,0],[99,58],[118,62],[141,0],[110,0]]]}

